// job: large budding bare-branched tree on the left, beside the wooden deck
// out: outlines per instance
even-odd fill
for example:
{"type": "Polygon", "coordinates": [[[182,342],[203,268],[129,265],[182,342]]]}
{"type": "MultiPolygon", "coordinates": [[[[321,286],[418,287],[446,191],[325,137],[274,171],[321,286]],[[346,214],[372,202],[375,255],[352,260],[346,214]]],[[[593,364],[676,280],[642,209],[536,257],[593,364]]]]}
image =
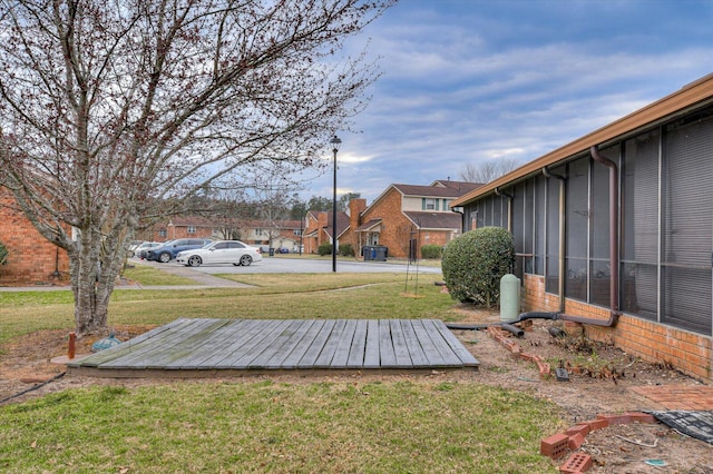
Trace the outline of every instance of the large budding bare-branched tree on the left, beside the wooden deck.
{"type": "Polygon", "coordinates": [[[159,204],[318,162],[378,77],[335,55],[394,1],[0,0],[0,185],[67,250],[79,335],[159,204]]]}

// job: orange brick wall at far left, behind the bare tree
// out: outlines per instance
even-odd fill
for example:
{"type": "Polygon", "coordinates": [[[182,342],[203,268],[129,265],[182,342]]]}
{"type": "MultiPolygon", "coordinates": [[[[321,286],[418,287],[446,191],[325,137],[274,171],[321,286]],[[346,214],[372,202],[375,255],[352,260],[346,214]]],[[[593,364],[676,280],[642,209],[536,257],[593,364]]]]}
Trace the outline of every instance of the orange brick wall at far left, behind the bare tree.
{"type": "Polygon", "coordinates": [[[0,190],[0,241],[10,253],[7,264],[0,266],[0,285],[68,285],[67,253],[42,237],[13,205],[7,191],[0,190]],[[56,269],[60,278],[55,277],[56,269]]]}

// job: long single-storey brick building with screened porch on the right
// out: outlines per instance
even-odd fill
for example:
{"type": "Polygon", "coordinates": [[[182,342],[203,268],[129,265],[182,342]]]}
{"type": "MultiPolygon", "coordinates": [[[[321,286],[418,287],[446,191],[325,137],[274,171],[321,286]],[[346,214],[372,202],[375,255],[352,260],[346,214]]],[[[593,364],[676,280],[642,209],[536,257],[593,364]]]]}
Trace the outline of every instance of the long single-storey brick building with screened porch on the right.
{"type": "Polygon", "coordinates": [[[508,228],[522,309],[713,382],[713,75],[450,203],[508,228]]]}

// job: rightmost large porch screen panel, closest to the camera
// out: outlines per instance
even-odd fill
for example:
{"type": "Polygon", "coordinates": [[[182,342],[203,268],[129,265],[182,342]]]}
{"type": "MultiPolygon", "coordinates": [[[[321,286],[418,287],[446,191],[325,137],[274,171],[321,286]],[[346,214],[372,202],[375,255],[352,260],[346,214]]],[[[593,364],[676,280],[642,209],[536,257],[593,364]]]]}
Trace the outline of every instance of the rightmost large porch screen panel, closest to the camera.
{"type": "Polygon", "coordinates": [[[667,130],[664,140],[663,322],[711,334],[713,122],[667,130]]]}

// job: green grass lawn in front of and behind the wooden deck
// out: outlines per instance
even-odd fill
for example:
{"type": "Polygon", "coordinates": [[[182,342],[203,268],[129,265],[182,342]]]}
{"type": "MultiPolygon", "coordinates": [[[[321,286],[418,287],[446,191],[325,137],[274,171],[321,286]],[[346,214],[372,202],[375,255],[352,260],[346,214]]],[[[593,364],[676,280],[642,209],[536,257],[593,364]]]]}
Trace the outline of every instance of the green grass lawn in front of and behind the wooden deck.
{"type": "MultiPolygon", "coordinates": [[[[109,325],[177,317],[458,320],[434,279],[241,275],[252,288],[118,289],[109,325]]],[[[0,344],[72,325],[70,292],[0,294],[0,344]]],[[[558,409],[477,379],[246,377],[67,389],[0,406],[0,471],[557,472],[539,455],[539,442],[563,427],[558,409]]]]}

